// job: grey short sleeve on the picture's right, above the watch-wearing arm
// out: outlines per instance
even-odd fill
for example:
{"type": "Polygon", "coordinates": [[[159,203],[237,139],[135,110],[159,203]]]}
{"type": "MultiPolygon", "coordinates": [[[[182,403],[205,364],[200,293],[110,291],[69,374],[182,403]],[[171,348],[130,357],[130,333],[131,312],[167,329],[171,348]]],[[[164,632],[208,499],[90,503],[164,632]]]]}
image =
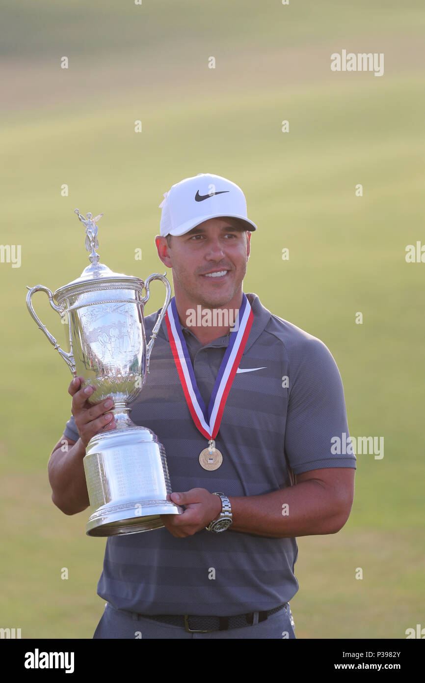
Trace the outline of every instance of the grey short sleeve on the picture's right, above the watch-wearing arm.
{"type": "Polygon", "coordinates": [[[295,474],[327,467],[355,469],[350,443],[340,372],[327,346],[317,337],[308,337],[289,350],[284,438],[288,462],[295,474]],[[334,447],[336,438],[340,449],[334,447]]]}

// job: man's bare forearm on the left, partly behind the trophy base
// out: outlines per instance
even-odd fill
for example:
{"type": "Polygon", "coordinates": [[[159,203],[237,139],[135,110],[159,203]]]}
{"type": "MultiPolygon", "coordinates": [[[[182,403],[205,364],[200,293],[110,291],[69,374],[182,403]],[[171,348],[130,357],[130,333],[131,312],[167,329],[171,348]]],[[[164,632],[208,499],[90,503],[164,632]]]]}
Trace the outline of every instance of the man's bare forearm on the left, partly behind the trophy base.
{"type": "Polygon", "coordinates": [[[82,512],[90,504],[83,458],[85,447],[79,438],[68,451],[53,451],[48,461],[52,500],[65,514],[82,512]]]}

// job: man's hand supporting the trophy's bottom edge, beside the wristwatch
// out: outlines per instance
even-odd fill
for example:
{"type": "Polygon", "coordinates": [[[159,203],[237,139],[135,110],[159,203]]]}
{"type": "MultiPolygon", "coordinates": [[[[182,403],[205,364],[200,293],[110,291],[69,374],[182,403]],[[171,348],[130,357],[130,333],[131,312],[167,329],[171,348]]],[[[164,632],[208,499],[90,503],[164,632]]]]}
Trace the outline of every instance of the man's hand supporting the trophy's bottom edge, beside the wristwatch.
{"type": "Polygon", "coordinates": [[[167,500],[186,508],[183,514],[161,515],[164,526],[175,538],[186,538],[205,529],[222,511],[220,496],[214,496],[206,488],[191,488],[190,491],[183,493],[171,493],[168,494],[167,500]]]}

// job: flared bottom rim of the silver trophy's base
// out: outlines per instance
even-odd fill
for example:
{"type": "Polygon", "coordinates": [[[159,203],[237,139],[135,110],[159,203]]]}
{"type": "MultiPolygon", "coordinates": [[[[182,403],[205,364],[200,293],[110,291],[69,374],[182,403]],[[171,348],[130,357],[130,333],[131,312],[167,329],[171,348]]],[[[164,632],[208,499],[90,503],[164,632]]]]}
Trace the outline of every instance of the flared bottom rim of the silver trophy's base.
{"type": "Polygon", "coordinates": [[[181,514],[181,508],[171,501],[134,501],[126,505],[104,505],[89,517],[85,527],[86,534],[115,536],[162,529],[162,514],[181,514]]]}

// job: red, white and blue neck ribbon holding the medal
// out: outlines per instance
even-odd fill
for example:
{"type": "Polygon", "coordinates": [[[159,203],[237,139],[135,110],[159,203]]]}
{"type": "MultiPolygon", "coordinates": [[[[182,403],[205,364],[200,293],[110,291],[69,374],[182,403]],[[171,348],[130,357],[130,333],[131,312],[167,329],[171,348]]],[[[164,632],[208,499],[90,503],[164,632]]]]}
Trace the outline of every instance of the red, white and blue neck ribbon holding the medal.
{"type": "Polygon", "coordinates": [[[226,348],[220,369],[218,370],[207,410],[198,385],[196,385],[192,361],[190,360],[186,340],[181,331],[174,296],[166,311],[165,322],[166,329],[168,330],[168,339],[170,339],[173,358],[190,415],[192,415],[192,419],[201,434],[206,436],[208,440],[214,439],[220,429],[224,405],[226,404],[233,378],[244,353],[253,320],[254,313],[252,313],[251,305],[242,292],[242,305],[237,313],[235,330],[230,333],[229,346],[226,348]]]}

